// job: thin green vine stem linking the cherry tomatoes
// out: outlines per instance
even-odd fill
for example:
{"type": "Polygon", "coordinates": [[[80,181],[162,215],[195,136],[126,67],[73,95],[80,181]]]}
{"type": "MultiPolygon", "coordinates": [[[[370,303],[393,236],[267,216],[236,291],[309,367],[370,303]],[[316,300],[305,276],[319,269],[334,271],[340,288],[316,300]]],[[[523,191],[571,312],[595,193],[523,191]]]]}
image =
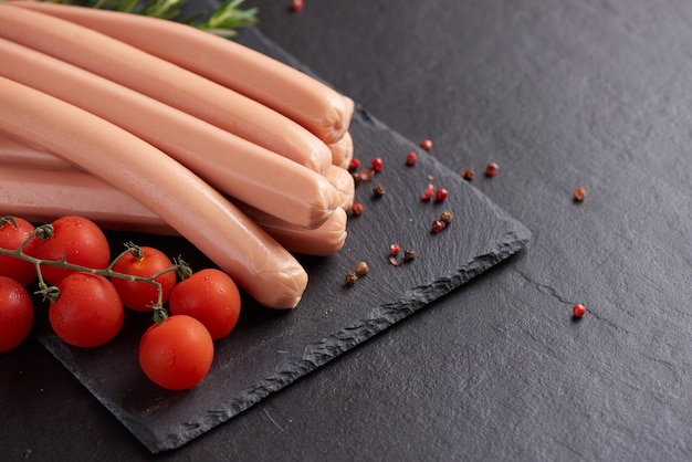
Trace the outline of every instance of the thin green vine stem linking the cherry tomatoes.
{"type": "MultiPolygon", "coordinates": [[[[17,228],[17,223],[13,222],[11,217],[0,218],[0,225],[7,222],[13,223],[13,225],[17,228]]],[[[57,288],[54,285],[49,286],[45,283],[45,281],[43,280],[43,275],[41,273],[41,266],[56,266],[56,267],[62,267],[66,270],[97,274],[104,277],[118,277],[118,279],[124,279],[124,280],[132,281],[132,282],[141,282],[146,284],[153,284],[156,286],[157,292],[158,292],[158,298],[156,301],[156,304],[151,306],[151,308],[154,309],[154,321],[160,324],[166,319],[167,314],[166,314],[166,311],[164,309],[164,300],[162,300],[164,291],[161,288],[161,284],[158,281],[156,281],[156,279],[171,271],[176,271],[178,275],[180,275],[180,277],[182,279],[189,277],[189,275],[192,274],[192,270],[190,269],[190,266],[180,258],[175,260],[172,266],[166,270],[162,270],[156,274],[153,274],[148,277],[135,276],[132,274],[125,274],[125,273],[120,273],[120,272],[113,270],[113,266],[115,265],[115,263],[124,255],[128,253],[133,253],[135,258],[137,258],[138,254],[141,255],[141,249],[132,242],[126,243],[125,244],[126,249],[119,255],[117,255],[111,262],[111,264],[105,269],[93,269],[88,266],[70,263],[64,258],[61,260],[43,260],[43,259],[38,259],[35,256],[24,253],[24,249],[27,248],[29,242],[31,242],[32,239],[36,238],[36,239],[44,240],[44,239],[49,239],[51,235],[53,235],[53,227],[51,224],[41,224],[34,228],[31,234],[17,249],[11,250],[11,249],[0,248],[0,254],[14,256],[17,259],[30,262],[35,266],[36,276],[39,279],[39,290],[34,292],[34,294],[42,295],[44,301],[48,300],[51,303],[55,302],[57,297],[60,296],[60,288],[57,288]]]]}

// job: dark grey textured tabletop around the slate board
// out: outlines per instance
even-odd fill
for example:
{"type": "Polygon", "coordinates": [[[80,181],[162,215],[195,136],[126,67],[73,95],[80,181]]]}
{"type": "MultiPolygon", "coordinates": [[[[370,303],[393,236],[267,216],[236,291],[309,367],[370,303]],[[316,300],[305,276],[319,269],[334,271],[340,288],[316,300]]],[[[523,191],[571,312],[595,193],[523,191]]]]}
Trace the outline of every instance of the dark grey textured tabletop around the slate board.
{"type": "MultiPolygon", "coordinates": [[[[473,185],[533,239],[156,459],[691,459],[692,4],[247,3],[270,39],[403,136],[433,139],[449,168],[496,161],[473,185]]],[[[3,370],[20,372],[0,386],[7,459],[150,458],[34,343],[0,356],[3,370]]]]}

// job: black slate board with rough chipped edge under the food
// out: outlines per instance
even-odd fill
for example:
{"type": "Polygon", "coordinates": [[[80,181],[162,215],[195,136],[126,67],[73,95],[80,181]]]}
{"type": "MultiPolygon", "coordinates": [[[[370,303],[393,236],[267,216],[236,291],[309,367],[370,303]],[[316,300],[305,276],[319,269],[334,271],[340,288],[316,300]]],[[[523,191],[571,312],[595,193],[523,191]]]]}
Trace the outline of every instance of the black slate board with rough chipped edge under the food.
{"type": "MultiPolygon", "coordinates": [[[[300,66],[256,29],[241,41],[300,66]]],[[[310,284],[301,305],[275,312],[243,298],[233,333],[217,343],[208,377],[192,390],[168,392],[145,378],[137,365],[137,343],[148,315],[128,312],[124,330],[95,349],[72,348],[51,332],[46,316],[36,316],[36,335],[46,347],[151,452],[178,448],[239,414],[300,377],[367,340],[382,329],[448,294],[475,275],[520,251],[531,233],[433,155],[358,107],[352,135],[355,156],[368,164],[379,156],[382,172],[357,187],[365,206],[348,225],[343,251],[329,258],[302,258],[310,284]],[[408,151],[419,162],[405,165],[408,151]],[[422,202],[420,191],[432,182],[450,191],[443,202],[422,202]],[[374,198],[381,183],[386,193],[374,198]],[[439,234],[430,227],[441,211],[455,219],[439,234]],[[394,266],[389,244],[415,249],[417,258],[394,266]],[[366,261],[370,273],[353,287],[347,271],[366,261]]],[[[485,179],[485,181],[492,181],[485,179]]],[[[210,265],[187,241],[111,232],[116,245],[134,241],[182,254],[193,267],[210,265]]]]}

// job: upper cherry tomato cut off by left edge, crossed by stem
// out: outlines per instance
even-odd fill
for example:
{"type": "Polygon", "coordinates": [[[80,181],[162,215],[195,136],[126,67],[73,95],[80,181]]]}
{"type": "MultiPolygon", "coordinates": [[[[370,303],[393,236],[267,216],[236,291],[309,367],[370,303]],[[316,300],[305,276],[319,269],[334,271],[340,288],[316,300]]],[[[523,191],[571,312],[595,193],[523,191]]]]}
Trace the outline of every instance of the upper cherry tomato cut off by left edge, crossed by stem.
{"type": "MultiPolygon", "coordinates": [[[[27,220],[19,217],[13,217],[13,220],[14,223],[7,218],[0,219],[0,248],[2,249],[18,249],[33,232],[33,224],[27,220]]],[[[24,248],[24,252],[30,253],[36,242],[36,239],[32,239],[24,248]]],[[[28,261],[0,255],[0,276],[11,277],[22,285],[29,285],[36,277],[36,269],[28,261]]]]}

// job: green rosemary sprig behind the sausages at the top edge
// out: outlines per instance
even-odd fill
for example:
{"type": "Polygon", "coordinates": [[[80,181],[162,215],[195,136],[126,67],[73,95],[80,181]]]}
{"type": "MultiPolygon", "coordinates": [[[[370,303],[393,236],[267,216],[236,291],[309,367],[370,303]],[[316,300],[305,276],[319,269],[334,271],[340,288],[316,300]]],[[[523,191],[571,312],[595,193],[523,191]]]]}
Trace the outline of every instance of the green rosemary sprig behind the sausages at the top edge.
{"type": "Polygon", "coordinates": [[[238,29],[255,24],[258,22],[258,9],[242,9],[245,0],[224,0],[207,20],[200,21],[206,15],[199,11],[189,17],[181,17],[182,7],[188,0],[43,0],[53,3],[75,4],[80,7],[96,8],[102,10],[122,11],[133,14],[141,14],[151,18],[175,20],[193,25],[207,32],[232,38],[238,34],[238,29]]]}

